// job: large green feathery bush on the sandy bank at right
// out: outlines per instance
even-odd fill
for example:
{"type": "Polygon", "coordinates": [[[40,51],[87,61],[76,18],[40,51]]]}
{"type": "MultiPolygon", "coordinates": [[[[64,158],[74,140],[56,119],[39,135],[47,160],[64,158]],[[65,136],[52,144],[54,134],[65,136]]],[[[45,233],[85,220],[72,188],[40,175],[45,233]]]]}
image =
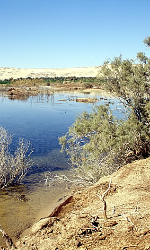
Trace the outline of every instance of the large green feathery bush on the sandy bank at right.
{"type": "Polygon", "coordinates": [[[124,104],[127,119],[117,120],[106,106],[95,107],[59,138],[72,167],[90,182],[150,155],[150,59],[142,52],[136,62],[116,57],[104,63],[98,80],[124,104]]]}

